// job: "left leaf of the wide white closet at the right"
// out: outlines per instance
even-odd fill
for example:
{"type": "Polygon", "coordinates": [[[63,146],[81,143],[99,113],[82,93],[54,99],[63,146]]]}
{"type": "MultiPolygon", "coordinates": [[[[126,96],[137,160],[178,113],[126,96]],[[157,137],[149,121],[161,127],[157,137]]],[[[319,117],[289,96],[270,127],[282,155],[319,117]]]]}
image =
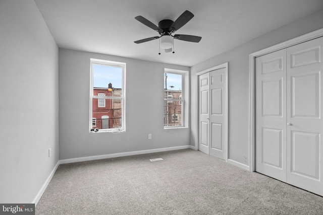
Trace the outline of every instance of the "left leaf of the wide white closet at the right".
{"type": "Polygon", "coordinates": [[[286,181],[286,50],[256,58],[256,171],[286,181]]]}

